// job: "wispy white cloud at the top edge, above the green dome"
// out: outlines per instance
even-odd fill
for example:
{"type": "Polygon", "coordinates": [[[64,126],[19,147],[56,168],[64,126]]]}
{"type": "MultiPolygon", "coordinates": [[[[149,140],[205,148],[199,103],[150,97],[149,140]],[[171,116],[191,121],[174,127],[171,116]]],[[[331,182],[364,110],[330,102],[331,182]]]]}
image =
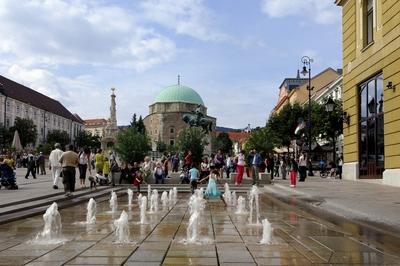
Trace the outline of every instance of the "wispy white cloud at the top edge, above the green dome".
{"type": "Polygon", "coordinates": [[[145,17],[177,34],[202,41],[223,41],[227,35],[213,29],[214,15],[203,0],[144,0],[145,17]]]}

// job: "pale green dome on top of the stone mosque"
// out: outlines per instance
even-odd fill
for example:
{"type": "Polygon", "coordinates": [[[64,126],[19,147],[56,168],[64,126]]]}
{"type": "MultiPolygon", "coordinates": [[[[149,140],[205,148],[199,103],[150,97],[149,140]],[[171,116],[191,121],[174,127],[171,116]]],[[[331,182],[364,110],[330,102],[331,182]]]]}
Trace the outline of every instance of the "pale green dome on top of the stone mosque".
{"type": "Polygon", "coordinates": [[[194,103],[204,106],[203,99],[200,95],[187,86],[173,85],[163,89],[155,99],[156,103],[173,103],[173,102],[185,102],[194,103]]]}

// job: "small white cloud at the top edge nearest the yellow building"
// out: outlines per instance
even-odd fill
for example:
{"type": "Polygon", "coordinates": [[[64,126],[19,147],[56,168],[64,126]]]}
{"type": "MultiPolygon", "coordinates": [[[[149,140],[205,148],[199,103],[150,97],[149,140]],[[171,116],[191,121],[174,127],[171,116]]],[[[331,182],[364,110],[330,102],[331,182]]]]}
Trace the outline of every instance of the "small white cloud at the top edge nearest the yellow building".
{"type": "Polygon", "coordinates": [[[261,10],[272,18],[302,16],[318,24],[333,24],[341,19],[332,0],[261,0],[261,10]]]}

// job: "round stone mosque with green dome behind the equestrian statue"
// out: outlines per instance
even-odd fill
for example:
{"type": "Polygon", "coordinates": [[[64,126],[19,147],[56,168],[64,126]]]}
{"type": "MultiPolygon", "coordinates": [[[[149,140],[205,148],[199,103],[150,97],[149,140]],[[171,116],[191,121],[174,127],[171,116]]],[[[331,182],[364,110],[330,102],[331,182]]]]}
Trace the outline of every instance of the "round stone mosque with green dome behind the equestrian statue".
{"type": "MultiPolygon", "coordinates": [[[[143,120],[147,135],[151,139],[152,150],[156,150],[157,142],[175,145],[180,131],[189,127],[182,120],[182,116],[193,113],[197,108],[206,118],[213,121],[214,130],[217,119],[207,115],[207,107],[201,96],[192,88],[180,84],[179,77],[178,84],[161,90],[154,103],[149,106],[149,115],[143,120]]],[[[210,147],[206,147],[205,153],[210,153],[210,147]]]]}

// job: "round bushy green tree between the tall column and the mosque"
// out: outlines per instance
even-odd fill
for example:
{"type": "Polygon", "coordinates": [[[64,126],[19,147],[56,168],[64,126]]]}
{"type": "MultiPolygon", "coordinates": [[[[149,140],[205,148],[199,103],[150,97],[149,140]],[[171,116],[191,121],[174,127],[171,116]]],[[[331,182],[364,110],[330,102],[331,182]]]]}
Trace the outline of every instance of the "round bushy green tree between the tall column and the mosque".
{"type": "Polygon", "coordinates": [[[117,135],[115,150],[127,163],[142,161],[150,149],[150,139],[133,127],[129,127],[117,135]]]}

